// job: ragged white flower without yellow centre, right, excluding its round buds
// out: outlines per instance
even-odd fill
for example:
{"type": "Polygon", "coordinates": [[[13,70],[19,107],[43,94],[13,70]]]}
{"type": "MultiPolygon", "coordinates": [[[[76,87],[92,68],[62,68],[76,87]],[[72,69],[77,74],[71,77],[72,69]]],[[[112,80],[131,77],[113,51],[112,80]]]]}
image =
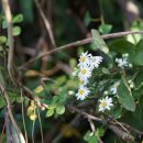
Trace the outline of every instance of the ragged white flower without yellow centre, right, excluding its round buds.
{"type": "Polygon", "coordinates": [[[128,67],[129,66],[129,63],[128,63],[128,58],[127,57],[123,57],[123,58],[116,58],[116,62],[118,63],[118,67],[120,68],[124,68],[124,67],[128,67]]]}

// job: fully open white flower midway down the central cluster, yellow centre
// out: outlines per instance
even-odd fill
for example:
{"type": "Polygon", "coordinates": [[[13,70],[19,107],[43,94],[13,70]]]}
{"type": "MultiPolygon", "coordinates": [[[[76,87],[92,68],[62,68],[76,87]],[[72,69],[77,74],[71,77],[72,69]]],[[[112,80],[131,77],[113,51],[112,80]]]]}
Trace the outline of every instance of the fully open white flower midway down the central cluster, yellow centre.
{"type": "Polygon", "coordinates": [[[87,80],[91,76],[91,69],[89,67],[81,67],[78,77],[79,79],[87,80]]]}

